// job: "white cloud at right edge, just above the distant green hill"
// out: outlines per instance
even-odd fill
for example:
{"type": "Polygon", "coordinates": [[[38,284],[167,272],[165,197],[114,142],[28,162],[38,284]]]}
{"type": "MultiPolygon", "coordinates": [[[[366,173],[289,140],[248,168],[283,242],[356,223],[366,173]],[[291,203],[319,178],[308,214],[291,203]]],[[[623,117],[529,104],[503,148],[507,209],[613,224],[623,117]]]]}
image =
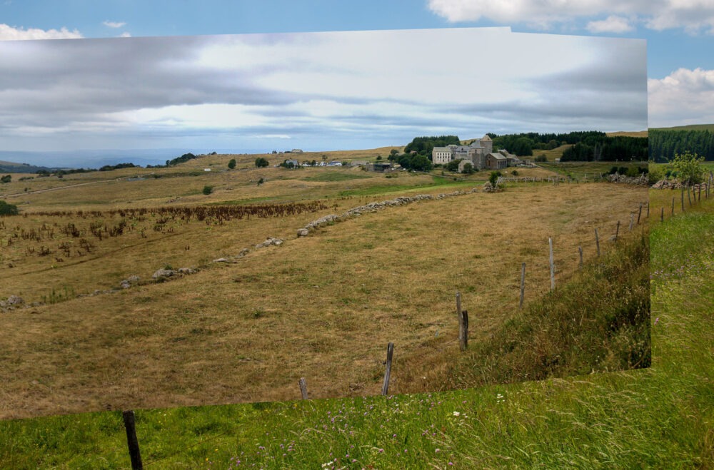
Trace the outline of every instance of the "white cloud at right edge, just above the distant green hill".
{"type": "Polygon", "coordinates": [[[714,123],[714,70],[679,68],[648,80],[650,127],[714,123]]]}

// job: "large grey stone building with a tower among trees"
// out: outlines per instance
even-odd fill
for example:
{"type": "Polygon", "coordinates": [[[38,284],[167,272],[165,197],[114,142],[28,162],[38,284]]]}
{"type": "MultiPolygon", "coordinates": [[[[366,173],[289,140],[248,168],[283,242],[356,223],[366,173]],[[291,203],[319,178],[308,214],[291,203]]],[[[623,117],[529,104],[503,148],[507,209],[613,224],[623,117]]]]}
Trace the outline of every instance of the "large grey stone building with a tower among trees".
{"type": "Polygon", "coordinates": [[[459,171],[463,165],[471,163],[476,170],[501,170],[508,165],[521,163],[516,155],[511,155],[506,150],[493,152],[493,141],[488,135],[476,139],[471,145],[448,145],[448,147],[434,147],[431,152],[433,163],[446,165],[453,160],[461,160],[459,171]]]}

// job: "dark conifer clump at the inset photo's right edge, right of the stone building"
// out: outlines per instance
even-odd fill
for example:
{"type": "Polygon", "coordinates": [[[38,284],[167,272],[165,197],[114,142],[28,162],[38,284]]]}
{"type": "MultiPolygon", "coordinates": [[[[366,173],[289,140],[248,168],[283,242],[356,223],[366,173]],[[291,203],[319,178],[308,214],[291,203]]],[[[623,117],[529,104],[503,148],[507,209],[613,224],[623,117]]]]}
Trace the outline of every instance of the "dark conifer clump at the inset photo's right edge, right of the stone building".
{"type": "Polygon", "coordinates": [[[560,157],[566,161],[646,161],[648,160],[648,139],[646,137],[586,138],[565,149],[560,157]]]}

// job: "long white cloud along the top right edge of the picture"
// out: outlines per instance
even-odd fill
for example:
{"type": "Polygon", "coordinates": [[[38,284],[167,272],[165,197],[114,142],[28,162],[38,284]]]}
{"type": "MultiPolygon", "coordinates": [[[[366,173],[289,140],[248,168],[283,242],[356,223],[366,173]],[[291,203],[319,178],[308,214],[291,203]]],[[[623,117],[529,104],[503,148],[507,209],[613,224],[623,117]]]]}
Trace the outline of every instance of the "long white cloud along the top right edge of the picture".
{"type": "MultiPolygon", "coordinates": [[[[536,29],[554,24],[573,24],[577,19],[610,15],[603,21],[590,21],[588,30],[618,33],[631,25],[633,17],[649,29],[683,28],[690,34],[714,34],[714,1],[711,0],[429,0],[429,9],[451,23],[488,19],[500,24],[523,23],[536,29]],[[605,29],[607,27],[610,29],[605,29]]],[[[631,27],[631,26],[630,26],[631,27]]]]}

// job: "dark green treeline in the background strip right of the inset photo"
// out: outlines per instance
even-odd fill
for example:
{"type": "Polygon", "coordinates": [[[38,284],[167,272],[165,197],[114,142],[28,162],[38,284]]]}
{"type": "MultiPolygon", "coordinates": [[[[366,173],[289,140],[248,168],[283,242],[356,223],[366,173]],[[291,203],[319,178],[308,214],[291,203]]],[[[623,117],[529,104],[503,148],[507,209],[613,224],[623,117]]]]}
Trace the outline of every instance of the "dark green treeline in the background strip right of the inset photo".
{"type": "Polygon", "coordinates": [[[657,163],[672,160],[675,154],[696,153],[714,160],[714,133],[711,131],[665,131],[650,129],[649,159],[657,163]]]}

